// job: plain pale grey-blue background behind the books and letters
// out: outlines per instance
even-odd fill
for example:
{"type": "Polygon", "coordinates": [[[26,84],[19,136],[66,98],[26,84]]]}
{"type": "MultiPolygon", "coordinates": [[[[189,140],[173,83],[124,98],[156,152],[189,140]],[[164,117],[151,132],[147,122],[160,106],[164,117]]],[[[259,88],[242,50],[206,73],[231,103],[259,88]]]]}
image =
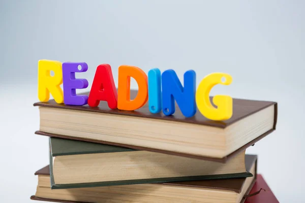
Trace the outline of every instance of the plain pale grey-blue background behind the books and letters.
{"type": "MultiPolygon", "coordinates": [[[[304,1],[0,1],[0,198],[33,202],[48,164],[39,128],[39,59],[87,62],[89,90],[101,63],[146,73],[195,70],[233,77],[211,94],[279,103],[277,131],[247,152],[280,202],[302,202],[304,1]],[[12,199],[9,199],[11,196],[12,199]]],[[[132,82],[132,87],[137,87],[132,82]]],[[[78,91],[81,92],[81,91],[78,91]]]]}

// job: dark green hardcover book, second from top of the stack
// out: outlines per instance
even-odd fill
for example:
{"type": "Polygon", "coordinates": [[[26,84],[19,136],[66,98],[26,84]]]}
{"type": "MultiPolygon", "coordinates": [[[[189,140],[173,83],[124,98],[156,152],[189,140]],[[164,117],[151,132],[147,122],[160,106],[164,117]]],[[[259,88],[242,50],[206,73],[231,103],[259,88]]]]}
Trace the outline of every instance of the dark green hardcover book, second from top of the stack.
{"type": "Polygon", "coordinates": [[[52,189],[246,178],[245,151],[226,163],[50,138],[52,189]]]}

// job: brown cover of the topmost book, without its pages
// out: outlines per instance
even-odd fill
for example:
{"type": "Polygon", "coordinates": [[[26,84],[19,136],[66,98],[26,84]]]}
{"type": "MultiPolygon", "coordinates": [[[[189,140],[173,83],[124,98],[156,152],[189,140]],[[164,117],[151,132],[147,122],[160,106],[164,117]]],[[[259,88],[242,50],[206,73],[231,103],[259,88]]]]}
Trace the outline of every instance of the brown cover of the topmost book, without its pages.
{"type": "MultiPolygon", "coordinates": [[[[88,95],[88,93],[85,93],[85,94],[88,95]]],[[[136,90],[131,90],[131,98],[134,98],[136,96],[136,94],[137,94],[136,90]]],[[[127,147],[127,148],[131,148],[131,149],[136,149],[136,150],[153,151],[153,152],[166,153],[166,154],[198,158],[198,159],[205,159],[205,160],[211,160],[211,161],[219,161],[219,162],[226,162],[229,158],[233,157],[240,151],[243,151],[246,148],[250,147],[254,143],[258,142],[259,140],[261,140],[262,138],[267,136],[273,130],[275,130],[276,125],[277,125],[277,112],[278,112],[278,105],[276,102],[238,99],[238,98],[233,98],[233,115],[230,119],[225,120],[225,121],[209,120],[209,119],[205,118],[198,110],[197,110],[197,113],[195,114],[195,116],[193,116],[191,118],[186,118],[184,115],[182,115],[182,113],[178,107],[176,107],[176,111],[172,116],[165,116],[163,113],[152,114],[149,112],[148,104],[146,104],[142,108],[135,110],[135,111],[122,111],[122,110],[118,110],[118,109],[114,109],[114,110],[109,109],[109,107],[105,101],[101,101],[100,105],[96,108],[89,107],[88,105],[69,106],[69,105],[65,105],[65,104],[57,104],[54,101],[54,99],[49,100],[48,102],[35,103],[34,106],[59,108],[59,109],[66,109],[66,110],[76,110],[76,111],[86,111],[86,112],[97,112],[97,113],[103,113],[103,114],[116,114],[116,115],[133,116],[133,117],[150,118],[150,119],[161,119],[161,120],[167,120],[167,121],[206,125],[206,126],[212,126],[212,127],[217,127],[217,128],[226,128],[229,125],[232,125],[235,122],[237,122],[243,118],[246,118],[246,117],[248,117],[254,113],[257,113],[263,109],[266,109],[270,106],[274,106],[275,113],[274,113],[273,128],[266,131],[265,133],[261,134],[261,136],[257,137],[256,139],[252,140],[251,142],[247,143],[246,145],[243,145],[239,149],[235,150],[234,152],[232,152],[231,154],[229,154],[223,158],[198,156],[198,155],[193,155],[193,154],[185,154],[185,153],[179,153],[179,152],[173,152],[173,151],[167,151],[167,150],[161,150],[161,149],[155,149],[155,148],[148,148],[148,147],[142,147],[142,146],[134,146],[134,145],[128,145],[128,144],[122,144],[122,143],[107,142],[107,141],[102,141],[102,140],[93,140],[93,139],[65,136],[62,134],[54,134],[54,133],[44,132],[44,131],[40,131],[40,130],[35,132],[36,134],[40,134],[43,136],[49,136],[49,137],[55,137],[55,138],[79,140],[79,141],[93,142],[93,143],[102,143],[102,144],[106,144],[106,145],[127,147]]]]}

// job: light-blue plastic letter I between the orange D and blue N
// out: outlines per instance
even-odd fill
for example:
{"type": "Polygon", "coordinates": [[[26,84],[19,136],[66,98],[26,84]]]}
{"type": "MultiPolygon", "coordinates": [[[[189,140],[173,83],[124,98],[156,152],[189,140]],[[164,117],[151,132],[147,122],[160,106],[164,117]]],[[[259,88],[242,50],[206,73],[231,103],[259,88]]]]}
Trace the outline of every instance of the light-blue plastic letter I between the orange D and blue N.
{"type": "Polygon", "coordinates": [[[150,113],[157,114],[162,110],[161,72],[151,69],[148,72],[148,105],[150,113]]]}

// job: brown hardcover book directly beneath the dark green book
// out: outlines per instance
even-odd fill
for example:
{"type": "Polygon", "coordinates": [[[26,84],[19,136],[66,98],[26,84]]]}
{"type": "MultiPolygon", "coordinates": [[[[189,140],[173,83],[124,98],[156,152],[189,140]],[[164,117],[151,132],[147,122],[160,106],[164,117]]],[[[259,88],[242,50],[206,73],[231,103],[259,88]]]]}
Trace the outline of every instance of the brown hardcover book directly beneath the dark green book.
{"type": "Polygon", "coordinates": [[[246,163],[247,171],[253,174],[248,178],[184,181],[156,184],[119,185],[71,189],[51,189],[50,171],[46,166],[35,173],[38,175],[34,200],[53,202],[95,202],[95,203],[239,203],[245,202],[256,181],[257,156],[246,163]]]}

